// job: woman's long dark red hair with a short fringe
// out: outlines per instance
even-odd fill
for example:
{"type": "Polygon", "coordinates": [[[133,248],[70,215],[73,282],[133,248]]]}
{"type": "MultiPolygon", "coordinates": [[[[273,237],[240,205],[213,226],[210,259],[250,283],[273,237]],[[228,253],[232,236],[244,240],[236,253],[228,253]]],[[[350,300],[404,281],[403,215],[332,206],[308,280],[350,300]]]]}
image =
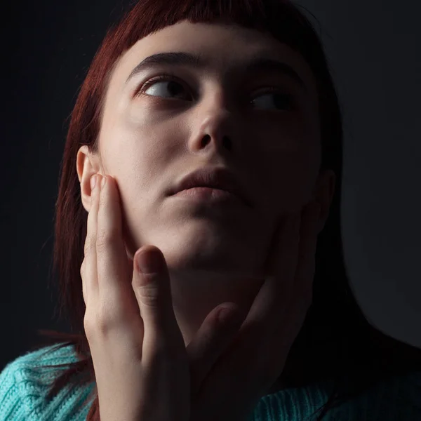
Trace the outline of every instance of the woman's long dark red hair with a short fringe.
{"type": "MultiPolygon", "coordinates": [[[[64,309],[74,333],[37,332],[44,337],[43,346],[45,342],[56,345],[46,352],[73,345],[77,361],[41,366],[67,368],[56,376],[48,399],[69,383],[83,387],[90,383],[95,385],[93,361],[83,328],[86,307],[80,268],[84,258],[87,213],[81,203],[76,154],[82,145],[98,153],[105,94],[116,61],[139,39],[181,20],[195,23],[224,19],[243,27],[268,31],[275,39],[298,51],[316,79],[322,143],[320,171],[332,170],[337,185],[316,246],[312,305],[290,348],[282,373],[286,385],[304,387],[313,382],[334,380],[333,391],[321,407],[319,421],[329,408],[362,394],[375,383],[421,370],[421,349],[371,326],[349,285],[340,229],[342,112],[319,36],[299,7],[302,6],[286,0],[140,0],[123,10],[118,22],[108,29],[80,88],[60,164],[53,270],[58,272],[60,316],[64,309]]],[[[93,403],[87,420],[100,420],[96,386],[83,401],[83,406],[88,405],[90,398],[93,403]]]]}

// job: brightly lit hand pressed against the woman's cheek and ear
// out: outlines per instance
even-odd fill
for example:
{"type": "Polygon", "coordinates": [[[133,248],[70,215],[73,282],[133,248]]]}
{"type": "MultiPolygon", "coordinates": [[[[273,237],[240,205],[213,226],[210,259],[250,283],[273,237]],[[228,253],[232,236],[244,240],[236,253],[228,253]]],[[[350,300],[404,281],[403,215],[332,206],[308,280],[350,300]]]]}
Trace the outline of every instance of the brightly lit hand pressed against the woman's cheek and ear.
{"type": "MultiPolygon", "coordinates": [[[[165,259],[155,246],[143,246],[133,260],[126,253],[122,234],[119,191],[106,176],[98,176],[81,264],[83,318],[93,359],[100,418],[125,421],[188,421],[190,371],[185,342],[175,319],[171,284],[165,259]],[[137,260],[145,255],[158,260],[159,269],[141,274],[137,260]]],[[[212,365],[226,343],[213,309],[203,321],[194,349],[213,338],[202,352],[212,365]]],[[[196,360],[198,361],[198,360],[196,360]]]]}

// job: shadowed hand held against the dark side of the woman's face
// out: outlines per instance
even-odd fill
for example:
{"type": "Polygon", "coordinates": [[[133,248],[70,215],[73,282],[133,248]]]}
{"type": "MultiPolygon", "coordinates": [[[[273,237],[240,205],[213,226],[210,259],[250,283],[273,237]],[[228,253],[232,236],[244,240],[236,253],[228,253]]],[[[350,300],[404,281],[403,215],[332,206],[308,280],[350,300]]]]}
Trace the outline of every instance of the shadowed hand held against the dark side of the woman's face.
{"type": "MultiPolygon", "coordinates": [[[[190,421],[245,421],[283,372],[312,304],[320,206],[310,203],[291,215],[275,235],[267,259],[267,279],[232,344],[202,371],[189,355],[192,397],[190,421]]],[[[239,323],[241,324],[241,322],[239,323]]],[[[198,356],[199,357],[199,356],[198,356]]]]}

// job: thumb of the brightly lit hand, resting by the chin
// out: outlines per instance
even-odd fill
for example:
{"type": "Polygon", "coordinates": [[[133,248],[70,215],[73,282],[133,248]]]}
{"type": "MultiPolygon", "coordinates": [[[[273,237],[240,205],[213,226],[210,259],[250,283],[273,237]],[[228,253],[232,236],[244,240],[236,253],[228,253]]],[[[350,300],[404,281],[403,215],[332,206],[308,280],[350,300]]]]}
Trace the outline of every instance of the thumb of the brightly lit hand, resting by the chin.
{"type": "Polygon", "coordinates": [[[156,352],[177,325],[168,267],[159,248],[143,246],[135,253],[132,286],[143,320],[143,343],[147,352],[156,352]]]}

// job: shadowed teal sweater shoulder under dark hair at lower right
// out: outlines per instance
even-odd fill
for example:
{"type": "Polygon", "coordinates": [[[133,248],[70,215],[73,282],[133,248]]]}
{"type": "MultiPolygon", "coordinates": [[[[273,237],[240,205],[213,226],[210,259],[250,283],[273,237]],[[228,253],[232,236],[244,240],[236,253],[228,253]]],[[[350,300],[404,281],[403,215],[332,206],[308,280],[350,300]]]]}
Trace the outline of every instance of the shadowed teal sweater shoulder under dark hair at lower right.
{"type": "MultiPolygon", "coordinates": [[[[260,399],[253,421],[316,421],[333,382],[283,389],[260,399]]],[[[359,396],[330,408],[323,421],[420,421],[421,371],[378,382],[359,396]]]]}

